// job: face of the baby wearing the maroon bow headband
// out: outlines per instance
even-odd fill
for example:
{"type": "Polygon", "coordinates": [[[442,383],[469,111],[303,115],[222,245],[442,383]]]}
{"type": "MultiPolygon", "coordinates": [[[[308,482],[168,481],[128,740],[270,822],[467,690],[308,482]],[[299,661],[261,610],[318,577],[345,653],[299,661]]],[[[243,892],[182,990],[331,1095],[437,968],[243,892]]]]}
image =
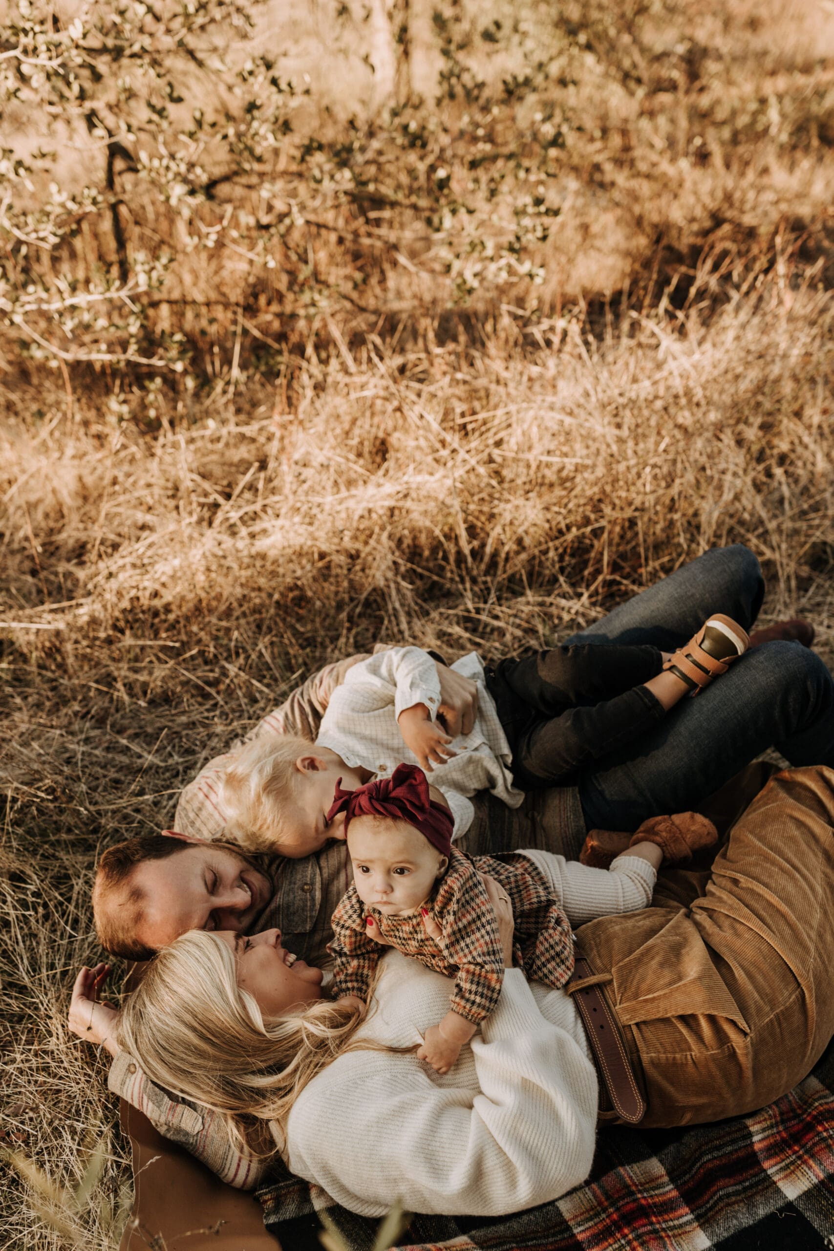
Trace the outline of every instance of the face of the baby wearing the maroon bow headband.
{"type": "Polygon", "coordinates": [[[419,908],[449,863],[414,826],[385,817],[354,817],[348,851],[359,898],[385,917],[419,908]]]}

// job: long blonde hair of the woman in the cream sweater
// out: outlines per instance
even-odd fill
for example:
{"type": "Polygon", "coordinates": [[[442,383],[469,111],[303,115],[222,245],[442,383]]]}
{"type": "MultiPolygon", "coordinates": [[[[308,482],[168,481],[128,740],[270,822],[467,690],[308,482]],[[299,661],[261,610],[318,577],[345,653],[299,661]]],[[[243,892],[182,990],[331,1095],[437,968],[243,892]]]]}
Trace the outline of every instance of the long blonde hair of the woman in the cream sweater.
{"type": "MultiPolygon", "coordinates": [[[[258,1151],[254,1120],[275,1121],[284,1146],[293,1103],[318,1072],[354,1050],[359,1021],[355,1010],[329,1000],[265,1021],[238,986],[231,947],[191,929],[160,951],[129,996],[119,1042],[153,1082],[223,1113],[231,1141],[258,1151]]],[[[373,1042],[356,1047],[376,1050],[373,1042]]]]}

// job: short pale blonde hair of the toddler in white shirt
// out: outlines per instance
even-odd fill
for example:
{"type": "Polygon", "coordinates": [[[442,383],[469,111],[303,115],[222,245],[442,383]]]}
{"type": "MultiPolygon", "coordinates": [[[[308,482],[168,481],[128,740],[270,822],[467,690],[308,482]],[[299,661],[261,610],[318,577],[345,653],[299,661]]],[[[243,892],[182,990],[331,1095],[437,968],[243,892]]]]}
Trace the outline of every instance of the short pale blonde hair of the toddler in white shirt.
{"type": "Polygon", "coordinates": [[[281,809],[298,793],[295,762],[311,752],[314,744],[295,734],[261,734],[246,743],[220,789],[228,838],[254,852],[280,851],[281,809]]]}

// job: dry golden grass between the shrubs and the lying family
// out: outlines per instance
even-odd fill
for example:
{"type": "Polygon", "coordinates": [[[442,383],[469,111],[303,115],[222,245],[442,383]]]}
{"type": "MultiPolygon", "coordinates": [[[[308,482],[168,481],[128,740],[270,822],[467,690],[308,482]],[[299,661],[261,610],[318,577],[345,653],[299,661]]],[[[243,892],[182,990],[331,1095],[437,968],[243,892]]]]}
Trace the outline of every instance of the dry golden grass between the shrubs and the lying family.
{"type": "MultiPolygon", "coordinates": [[[[9,397],[4,1126],[53,1177],[78,1182],[114,1115],[63,1025],[98,955],[96,852],[170,821],[200,761],[298,676],[380,636],[548,642],[736,539],[770,612],[806,610],[830,653],[830,305],[784,296],[774,281],[706,329],[628,319],[526,357],[369,344],[305,367],[291,413],[253,379],[200,412],[158,398],[155,434],[141,397],[121,423],[94,394],[74,419],[60,394],[9,397]]],[[[110,1141],[90,1247],[125,1185],[110,1141]]],[[[11,1246],[60,1245],[6,1196],[11,1246]]]]}

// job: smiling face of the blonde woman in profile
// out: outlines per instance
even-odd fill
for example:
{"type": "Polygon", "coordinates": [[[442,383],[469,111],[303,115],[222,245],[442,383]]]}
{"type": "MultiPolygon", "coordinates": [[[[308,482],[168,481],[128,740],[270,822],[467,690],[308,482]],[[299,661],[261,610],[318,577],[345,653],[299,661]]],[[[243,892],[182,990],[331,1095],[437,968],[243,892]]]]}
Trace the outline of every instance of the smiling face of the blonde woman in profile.
{"type": "Polygon", "coordinates": [[[224,929],[218,937],[235,952],[238,986],[249,991],[264,1017],[279,1017],[321,998],[321,970],[285,951],[280,929],[251,937],[224,929]]]}

